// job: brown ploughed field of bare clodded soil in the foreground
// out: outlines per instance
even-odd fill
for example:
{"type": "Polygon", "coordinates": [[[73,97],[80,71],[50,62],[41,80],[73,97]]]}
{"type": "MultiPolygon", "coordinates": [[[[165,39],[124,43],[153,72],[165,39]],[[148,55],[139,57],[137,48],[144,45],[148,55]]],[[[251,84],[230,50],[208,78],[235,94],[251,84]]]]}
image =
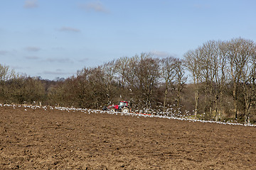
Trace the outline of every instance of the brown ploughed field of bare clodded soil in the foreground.
{"type": "Polygon", "coordinates": [[[0,169],[256,169],[256,127],[0,106],[0,169]]]}

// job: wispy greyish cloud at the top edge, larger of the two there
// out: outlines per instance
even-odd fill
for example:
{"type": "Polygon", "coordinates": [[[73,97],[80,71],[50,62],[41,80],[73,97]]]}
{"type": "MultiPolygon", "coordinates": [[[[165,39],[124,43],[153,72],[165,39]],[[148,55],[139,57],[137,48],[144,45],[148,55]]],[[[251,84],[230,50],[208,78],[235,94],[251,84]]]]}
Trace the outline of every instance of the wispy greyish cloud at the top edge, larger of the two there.
{"type": "Polygon", "coordinates": [[[102,12],[102,13],[110,13],[105,6],[101,3],[101,1],[91,1],[86,4],[80,4],[80,8],[85,9],[86,11],[95,11],[95,12],[102,12]]]}

